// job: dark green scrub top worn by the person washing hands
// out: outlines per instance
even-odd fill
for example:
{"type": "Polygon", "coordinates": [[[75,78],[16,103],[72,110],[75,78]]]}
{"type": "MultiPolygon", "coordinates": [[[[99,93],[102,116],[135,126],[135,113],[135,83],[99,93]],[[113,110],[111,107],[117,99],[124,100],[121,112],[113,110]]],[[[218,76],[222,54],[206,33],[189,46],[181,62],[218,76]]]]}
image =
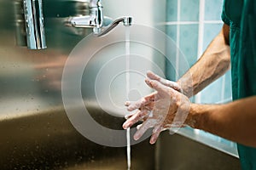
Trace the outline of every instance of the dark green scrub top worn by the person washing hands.
{"type": "MultiPolygon", "coordinates": [[[[230,26],[233,100],[256,95],[256,0],[224,0],[222,20],[230,26]]],[[[256,148],[237,144],[237,150],[241,168],[256,170],[256,148]]]]}

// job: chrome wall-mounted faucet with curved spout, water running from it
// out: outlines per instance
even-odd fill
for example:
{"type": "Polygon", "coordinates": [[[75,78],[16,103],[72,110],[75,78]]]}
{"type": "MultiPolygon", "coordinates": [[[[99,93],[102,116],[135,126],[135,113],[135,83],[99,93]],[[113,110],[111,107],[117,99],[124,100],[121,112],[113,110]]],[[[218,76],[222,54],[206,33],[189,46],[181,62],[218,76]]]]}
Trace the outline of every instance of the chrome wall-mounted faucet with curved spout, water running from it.
{"type": "Polygon", "coordinates": [[[94,35],[102,37],[109,31],[123,22],[124,26],[131,26],[132,18],[130,16],[121,17],[112,20],[109,17],[103,17],[102,0],[90,0],[90,15],[70,17],[65,21],[66,26],[78,28],[92,28],[94,35]]]}

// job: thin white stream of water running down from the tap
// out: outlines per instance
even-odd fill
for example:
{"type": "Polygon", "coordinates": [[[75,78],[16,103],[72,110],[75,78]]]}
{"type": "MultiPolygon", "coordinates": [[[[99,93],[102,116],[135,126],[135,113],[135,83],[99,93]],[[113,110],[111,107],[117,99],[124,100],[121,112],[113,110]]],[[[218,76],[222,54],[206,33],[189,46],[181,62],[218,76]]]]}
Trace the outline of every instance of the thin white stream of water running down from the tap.
{"type": "MultiPolygon", "coordinates": [[[[125,28],[125,82],[126,82],[126,99],[129,99],[130,91],[130,27],[125,28]]],[[[127,169],[131,169],[131,137],[130,127],[126,130],[127,140],[127,169]]]]}

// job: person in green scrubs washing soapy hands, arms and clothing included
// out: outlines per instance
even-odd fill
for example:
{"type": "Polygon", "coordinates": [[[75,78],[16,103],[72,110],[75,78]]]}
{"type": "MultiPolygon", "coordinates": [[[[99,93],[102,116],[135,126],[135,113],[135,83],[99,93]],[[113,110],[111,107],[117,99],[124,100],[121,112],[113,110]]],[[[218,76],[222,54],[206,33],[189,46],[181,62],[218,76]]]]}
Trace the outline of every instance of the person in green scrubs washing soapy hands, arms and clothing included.
{"type": "MultiPolygon", "coordinates": [[[[201,59],[177,82],[148,71],[145,82],[155,92],[126,102],[126,129],[143,121],[134,139],[153,127],[150,143],[169,127],[189,126],[237,142],[242,169],[256,169],[256,1],[224,0],[224,26],[201,59]],[[233,102],[199,105],[189,98],[230,69],[233,102]]],[[[212,92],[214,93],[214,92],[212,92]]]]}

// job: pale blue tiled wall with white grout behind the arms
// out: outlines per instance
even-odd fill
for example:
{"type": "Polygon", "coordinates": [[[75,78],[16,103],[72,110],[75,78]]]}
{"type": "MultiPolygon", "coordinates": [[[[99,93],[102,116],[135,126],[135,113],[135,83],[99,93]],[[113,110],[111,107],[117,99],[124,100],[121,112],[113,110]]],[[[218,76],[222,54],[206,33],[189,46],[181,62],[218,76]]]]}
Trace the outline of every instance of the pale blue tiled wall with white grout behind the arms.
{"type": "MultiPolygon", "coordinates": [[[[177,80],[183,75],[183,71],[177,71],[183,63],[180,63],[181,55],[188,61],[189,66],[194,65],[207,45],[212,41],[223,26],[221,20],[223,0],[166,0],[166,34],[173,39],[182,54],[168,56],[172,65],[166,64],[166,77],[177,80]],[[175,63],[175,64],[173,64],[175,63]]],[[[168,44],[167,44],[168,47],[168,44]]],[[[224,103],[231,100],[230,71],[224,77],[219,78],[200,94],[191,100],[197,103],[224,103]]],[[[202,135],[217,140],[218,142],[235,147],[235,144],[216,137],[209,133],[196,131],[202,135]]]]}

